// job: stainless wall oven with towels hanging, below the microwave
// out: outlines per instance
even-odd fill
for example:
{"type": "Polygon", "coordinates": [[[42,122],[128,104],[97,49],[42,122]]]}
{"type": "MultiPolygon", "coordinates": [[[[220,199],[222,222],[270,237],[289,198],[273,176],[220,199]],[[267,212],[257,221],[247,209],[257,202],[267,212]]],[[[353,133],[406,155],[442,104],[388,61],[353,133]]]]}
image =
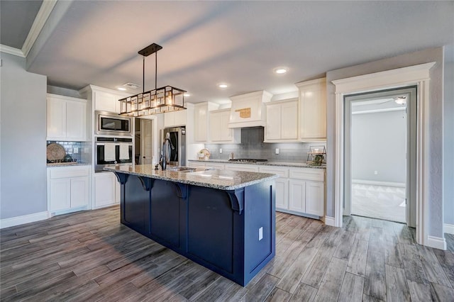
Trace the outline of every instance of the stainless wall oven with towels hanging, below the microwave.
{"type": "Polygon", "coordinates": [[[103,172],[107,164],[133,163],[133,138],[97,137],[94,153],[94,171],[103,172]]]}

